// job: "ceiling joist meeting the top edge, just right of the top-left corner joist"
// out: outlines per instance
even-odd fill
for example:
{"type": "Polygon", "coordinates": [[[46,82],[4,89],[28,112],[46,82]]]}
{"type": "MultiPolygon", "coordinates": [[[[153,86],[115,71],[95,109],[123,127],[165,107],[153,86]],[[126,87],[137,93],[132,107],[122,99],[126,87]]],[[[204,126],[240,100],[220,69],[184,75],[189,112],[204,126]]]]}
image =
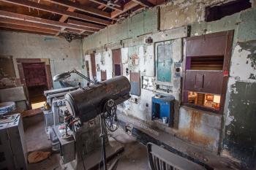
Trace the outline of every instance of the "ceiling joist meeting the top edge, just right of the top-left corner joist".
{"type": "Polygon", "coordinates": [[[72,7],[74,9],[77,9],[79,11],[87,12],[89,14],[97,15],[103,18],[109,18],[111,19],[110,13],[104,12],[99,9],[95,9],[92,7],[86,7],[80,4],[79,2],[72,2],[72,1],[67,1],[67,0],[47,0],[50,1],[53,4],[59,4],[64,7],[72,7]]]}

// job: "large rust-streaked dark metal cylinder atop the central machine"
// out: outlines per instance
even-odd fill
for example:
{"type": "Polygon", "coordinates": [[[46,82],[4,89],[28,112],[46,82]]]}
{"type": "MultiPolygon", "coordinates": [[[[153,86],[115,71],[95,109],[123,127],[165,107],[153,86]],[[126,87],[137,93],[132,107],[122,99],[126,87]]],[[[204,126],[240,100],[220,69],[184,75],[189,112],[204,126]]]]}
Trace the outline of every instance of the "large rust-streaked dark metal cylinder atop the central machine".
{"type": "Polygon", "coordinates": [[[102,112],[102,104],[108,99],[113,99],[116,104],[126,101],[131,85],[127,77],[118,76],[110,80],[99,82],[88,88],[79,88],[67,93],[66,104],[69,112],[75,117],[80,117],[82,122],[89,121],[102,112]]]}

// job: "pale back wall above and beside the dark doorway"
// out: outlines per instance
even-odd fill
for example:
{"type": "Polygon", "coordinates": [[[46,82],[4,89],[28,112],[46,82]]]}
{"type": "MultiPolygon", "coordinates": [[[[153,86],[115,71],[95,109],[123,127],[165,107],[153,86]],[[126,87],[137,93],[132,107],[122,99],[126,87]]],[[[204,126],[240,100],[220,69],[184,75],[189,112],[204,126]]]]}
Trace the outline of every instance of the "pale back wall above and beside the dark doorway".
{"type": "MultiPolygon", "coordinates": [[[[0,31],[0,54],[13,56],[17,77],[19,73],[15,58],[49,58],[52,76],[71,69],[82,72],[82,49],[78,40],[69,43],[53,36],[0,31]]],[[[83,82],[76,75],[69,80],[74,85],[83,82]]],[[[59,82],[53,82],[53,87],[60,88],[59,82]]]]}

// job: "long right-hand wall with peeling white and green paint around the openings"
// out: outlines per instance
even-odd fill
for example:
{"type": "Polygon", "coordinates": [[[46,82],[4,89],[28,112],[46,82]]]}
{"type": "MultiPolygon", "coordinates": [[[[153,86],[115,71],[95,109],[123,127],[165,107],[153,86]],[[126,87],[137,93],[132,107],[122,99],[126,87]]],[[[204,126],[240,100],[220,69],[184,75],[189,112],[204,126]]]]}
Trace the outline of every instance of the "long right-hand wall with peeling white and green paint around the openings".
{"type": "MultiPolygon", "coordinates": [[[[214,152],[222,150],[222,155],[231,156],[249,165],[254,163],[253,160],[255,160],[256,155],[256,133],[252,130],[256,129],[256,123],[249,121],[246,124],[243,117],[246,120],[250,117],[254,122],[256,121],[255,98],[242,94],[244,93],[243,90],[246,90],[246,93],[256,91],[255,0],[252,1],[252,9],[246,9],[245,11],[226,16],[221,20],[213,22],[204,21],[206,7],[227,1],[170,1],[169,4],[159,7],[159,20],[156,20],[157,8],[148,11],[149,13],[151,12],[151,15],[155,15],[151,20],[151,25],[148,25],[151,31],[146,31],[145,27],[143,27],[143,24],[146,23],[145,20],[148,20],[145,18],[146,15],[142,15],[146,13],[144,11],[132,16],[133,19],[129,18],[116,26],[110,26],[103,31],[99,31],[98,34],[89,36],[85,39],[84,50],[86,53],[91,53],[93,50],[96,50],[97,53],[102,53],[105,49],[121,48],[123,74],[129,78],[129,72],[126,72],[126,68],[135,72],[140,71],[141,95],[132,96],[129,101],[118,107],[121,112],[125,112],[132,117],[138,117],[148,123],[148,125],[157,126],[157,128],[168,133],[176,134],[180,138],[204,147],[207,150],[214,152]],[[131,22],[134,22],[135,25],[130,25],[131,22]],[[159,31],[157,31],[158,22],[159,31]],[[176,58],[177,62],[182,61],[186,53],[184,48],[186,44],[184,44],[183,38],[189,35],[187,26],[191,28],[190,36],[234,30],[230,77],[227,85],[223,115],[189,107],[177,107],[175,115],[175,123],[177,125],[175,126],[176,129],[173,129],[167,128],[161,123],[151,121],[151,97],[157,93],[157,81],[154,73],[154,61],[157,57],[156,45],[164,41],[181,41],[181,47],[178,48],[177,46],[173,51],[173,59],[176,58]],[[153,39],[153,44],[148,45],[145,43],[145,39],[148,37],[153,39]],[[138,55],[138,64],[132,65],[132,55],[138,55]],[[137,102],[135,102],[135,98],[137,102]],[[241,129],[241,127],[243,128],[241,129]],[[246,143],[246,146],[243,146],[242,137],[250,141],[246,143]],[[234,144],[238,145],[234,147],[234,144]],[[239,147],[243,149],[239,150],[239,147]]],[[[176,90],[173,90],[170,94],[176,96],[176,106],[178,106],[181,85],[179,79],[173,80],[173,82],[176,85],[171,85],[176,90]]]]}

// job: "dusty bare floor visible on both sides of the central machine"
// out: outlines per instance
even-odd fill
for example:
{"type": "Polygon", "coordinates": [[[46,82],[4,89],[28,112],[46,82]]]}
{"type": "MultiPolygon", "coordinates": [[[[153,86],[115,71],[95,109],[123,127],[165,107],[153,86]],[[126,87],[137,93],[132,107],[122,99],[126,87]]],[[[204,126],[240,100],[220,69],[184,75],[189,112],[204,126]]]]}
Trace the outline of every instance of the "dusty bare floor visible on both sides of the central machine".
{"type": "MultiPolygon", "coordinates": [[[[23,118],[24,131],[28,152],[35,150],[50,151],[50,141],[45,134],[43,115],[23,118]]],[[[136,139],[124,133],[121,129],[110,134],[121,144],[124,144],[124,152],[118,162],[118,170],[147,170],[148,158],[146,147],[140,144],[136,139]]],[[[58,170],[59,153],[53,153],[50,158],[39,163],[29,164],[29,170],[58,170]]]]}

